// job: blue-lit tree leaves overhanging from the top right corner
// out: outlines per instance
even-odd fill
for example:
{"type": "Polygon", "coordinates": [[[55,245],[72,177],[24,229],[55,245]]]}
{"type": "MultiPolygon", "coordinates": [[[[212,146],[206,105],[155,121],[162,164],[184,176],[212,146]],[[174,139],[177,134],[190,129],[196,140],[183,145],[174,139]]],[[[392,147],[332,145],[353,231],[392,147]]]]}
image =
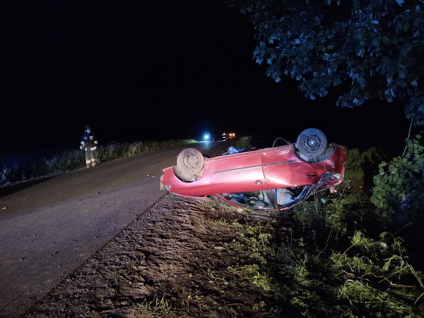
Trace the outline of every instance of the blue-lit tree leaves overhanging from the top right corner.
{"type": "Polygon", "coordinates": [[[254,60],[266,75],[300,82],[305,97],[324,97],[343,83],[341,107],[368,99],[400,100],[407,118],[424,124],[422,1],[227,0],[249,17],[258,43],[254,60]],[[345,86],[343,86],[345,87],[345,86]]]}

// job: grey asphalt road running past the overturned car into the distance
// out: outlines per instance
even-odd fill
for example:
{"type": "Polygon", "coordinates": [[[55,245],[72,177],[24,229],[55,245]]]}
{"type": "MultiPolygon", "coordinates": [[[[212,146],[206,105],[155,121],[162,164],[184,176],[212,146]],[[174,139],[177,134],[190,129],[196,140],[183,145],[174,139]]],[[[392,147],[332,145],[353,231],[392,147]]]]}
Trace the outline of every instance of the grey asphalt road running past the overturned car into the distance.
{"type": "MultiPolygon", "coordinates": [[[[209,155],[225,148],[189,146],[209,155]]],[[[165,195],[162,169],[183,148],[0,188],[0,317],[18,317],[165,195]]]]}

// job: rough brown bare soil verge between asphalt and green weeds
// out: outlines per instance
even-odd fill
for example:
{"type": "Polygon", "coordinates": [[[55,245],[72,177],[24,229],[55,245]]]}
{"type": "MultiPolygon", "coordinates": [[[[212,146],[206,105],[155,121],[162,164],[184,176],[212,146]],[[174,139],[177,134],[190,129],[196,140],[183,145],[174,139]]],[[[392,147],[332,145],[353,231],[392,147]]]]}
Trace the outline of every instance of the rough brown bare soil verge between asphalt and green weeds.
{"type": "Polygon", "coordinates": [[[213,201],[163,196],[21,317],[257,317],[262,292],[225,276],[250,253],[227,224],[255,220],[213,201]]]}

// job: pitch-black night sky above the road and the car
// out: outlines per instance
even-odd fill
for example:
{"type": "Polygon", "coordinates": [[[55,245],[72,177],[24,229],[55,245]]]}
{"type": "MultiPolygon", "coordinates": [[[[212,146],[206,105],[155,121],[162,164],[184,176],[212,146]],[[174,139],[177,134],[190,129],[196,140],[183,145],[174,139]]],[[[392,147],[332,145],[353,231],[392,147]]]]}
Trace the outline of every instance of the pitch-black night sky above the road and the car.
{"type": "Polygon", "coordinates": [[[222,131],[295,142],[316,127],[350,148],[405,147],[402,105],[340,108],[337,92],[311,101],[267,78],[253,26],[223,0],[30,2],[0,4],[3,151],[77,149],[86,124],[101,144],[222,131]]]}

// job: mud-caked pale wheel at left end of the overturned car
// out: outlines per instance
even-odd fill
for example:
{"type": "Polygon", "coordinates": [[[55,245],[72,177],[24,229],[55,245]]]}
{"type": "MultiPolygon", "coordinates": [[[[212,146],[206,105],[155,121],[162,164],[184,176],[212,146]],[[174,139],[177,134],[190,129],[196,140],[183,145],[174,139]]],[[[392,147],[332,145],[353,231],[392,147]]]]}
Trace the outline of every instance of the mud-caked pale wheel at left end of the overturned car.
{"type": "Polygon", "coordinates": [[[194,181],[203,175],[205,158],[195,148],[187,148],[181,151],[177,157],[177,176],[184,181],[194,181]]]}

